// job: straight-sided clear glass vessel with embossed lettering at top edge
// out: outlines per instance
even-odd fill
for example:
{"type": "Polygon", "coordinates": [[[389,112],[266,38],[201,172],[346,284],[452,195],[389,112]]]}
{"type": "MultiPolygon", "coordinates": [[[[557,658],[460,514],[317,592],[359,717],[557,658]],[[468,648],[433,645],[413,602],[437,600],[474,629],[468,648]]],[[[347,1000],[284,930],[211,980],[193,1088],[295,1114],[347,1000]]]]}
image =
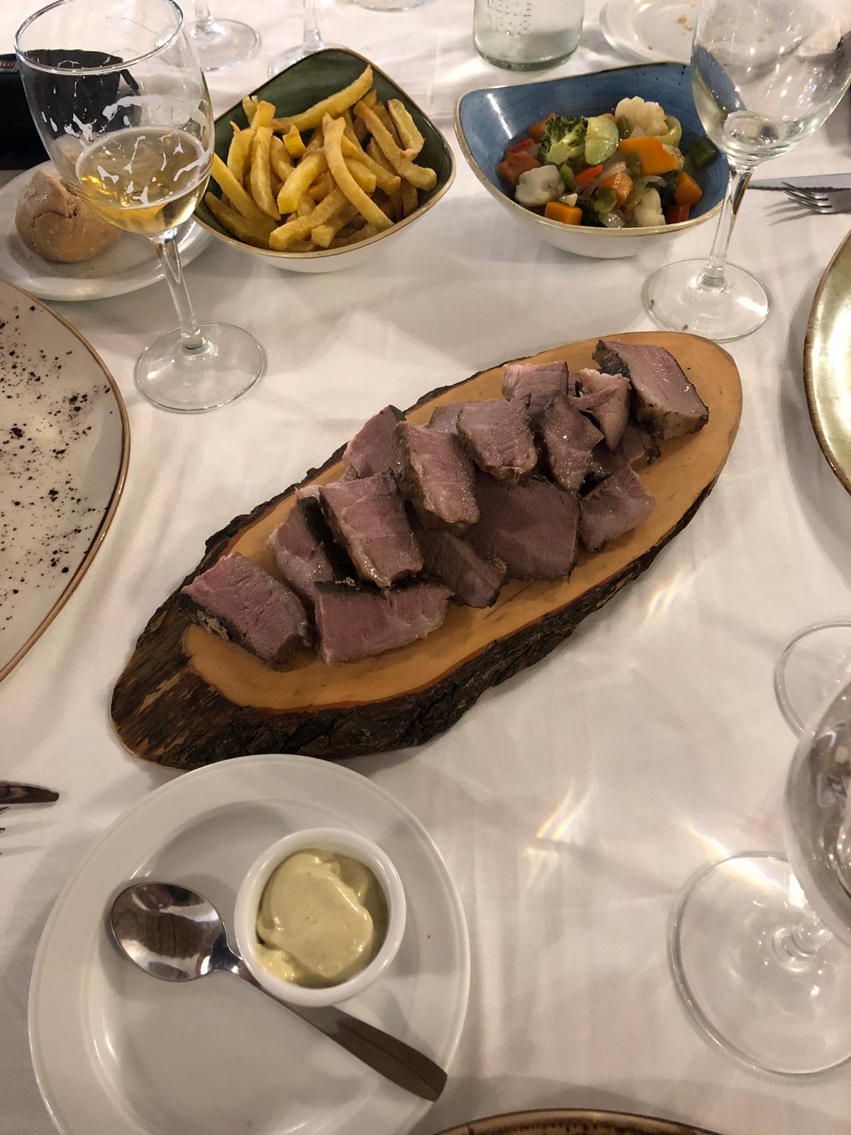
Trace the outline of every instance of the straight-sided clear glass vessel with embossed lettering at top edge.
{"type": "Polygon", "coordinates": [[[579,47],[584,8],[584,0],[475,0],[475,50],[508,70],[555,67],[579,47]]]}

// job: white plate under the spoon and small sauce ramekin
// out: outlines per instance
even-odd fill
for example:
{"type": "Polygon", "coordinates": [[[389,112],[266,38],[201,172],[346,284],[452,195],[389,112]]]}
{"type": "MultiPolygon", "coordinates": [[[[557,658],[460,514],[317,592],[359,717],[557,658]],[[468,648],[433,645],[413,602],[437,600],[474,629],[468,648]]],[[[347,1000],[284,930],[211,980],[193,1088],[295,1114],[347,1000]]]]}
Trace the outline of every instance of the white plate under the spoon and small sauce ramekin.
{"type": "Polygon", "coordinates": [[[311,757],[237,757],[148,796],[100,839],[48,918],[30,986],[30,1048],[65,1135],[395,1135],[429,1103],[390,1084],[229,974],[175,985],[132,965],[106,916],[132,878],[180,883],[219,909],[287,832],[348,827],[393,859],[405,935],[346,1010],[448,1068],[470,986],[457,891],[426,830],[365,776],[311,757]]]}

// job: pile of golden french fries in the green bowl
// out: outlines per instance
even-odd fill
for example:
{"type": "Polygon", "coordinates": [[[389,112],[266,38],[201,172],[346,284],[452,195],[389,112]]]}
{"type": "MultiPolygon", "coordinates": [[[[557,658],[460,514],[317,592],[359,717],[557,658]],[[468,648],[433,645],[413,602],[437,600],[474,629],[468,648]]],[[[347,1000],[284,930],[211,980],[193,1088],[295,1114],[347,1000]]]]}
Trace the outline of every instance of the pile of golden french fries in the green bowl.
{"type": "Polygon", "coordinates": [[[246,95],[247,126],[231,123],[218,190],[204,196],[218,224],[246,244],[279,252],[343,249],[386,232],[420,204],[437,174],[418,166],[422,133],[398,99],[385,106],[368,65],[353,83],[296,115],[246,95]],[[217,195],[220,193],[221,195],[217,195]]]}

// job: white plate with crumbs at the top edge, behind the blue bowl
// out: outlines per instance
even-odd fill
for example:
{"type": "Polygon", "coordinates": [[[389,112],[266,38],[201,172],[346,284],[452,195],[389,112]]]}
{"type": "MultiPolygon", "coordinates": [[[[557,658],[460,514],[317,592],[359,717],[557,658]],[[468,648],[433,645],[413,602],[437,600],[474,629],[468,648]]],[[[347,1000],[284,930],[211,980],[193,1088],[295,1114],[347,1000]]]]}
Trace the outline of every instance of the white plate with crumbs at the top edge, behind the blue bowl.
{"type": "Polygon", "coordinates": [[[697,15],[698,0],[606,0],[600,28],[633,59],[688,64],[697,15]]]}

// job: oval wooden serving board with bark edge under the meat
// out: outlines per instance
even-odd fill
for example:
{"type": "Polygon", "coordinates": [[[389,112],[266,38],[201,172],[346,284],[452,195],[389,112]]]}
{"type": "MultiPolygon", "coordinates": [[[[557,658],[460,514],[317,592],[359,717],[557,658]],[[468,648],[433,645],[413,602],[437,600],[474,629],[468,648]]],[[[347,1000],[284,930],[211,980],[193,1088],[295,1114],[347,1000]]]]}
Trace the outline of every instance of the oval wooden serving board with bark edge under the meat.
{"type": "MultiPolygon", "coordinates": [[[[639,331],[612,336],[666,347],[709,407],[699,432],[663,443],[641,470],[656,508],[640,528],[601,552],[581,552],[570,580],[511,581],[488,609],[455,604],[444,625],[408,647],[328,666],[306,651],[273,671],[246,650],[191,625],[176,592],[157,611],[112,695],[112,721],[138,757],[195,768],[251,753],[346,757],[420,745],[448,729],[491,686],[539,662],[590,612],[650,566],[709,494],[727,459],[741,413],[739,372],[719,346],[694,335],[639,331]]],[[[531,355],[591,365],[597,339],[531,355]]],[[[502,394],[503,367],[426,395],[408,411],[427,422],[436,405],[502,394]]],[[[339,449],[302,481],[343,472],[339,449]]],[[[225,552],[238,550],[276,573],[266,539],[294,505],[292,486],[211,537],[185,582],[225,552]]]]}

